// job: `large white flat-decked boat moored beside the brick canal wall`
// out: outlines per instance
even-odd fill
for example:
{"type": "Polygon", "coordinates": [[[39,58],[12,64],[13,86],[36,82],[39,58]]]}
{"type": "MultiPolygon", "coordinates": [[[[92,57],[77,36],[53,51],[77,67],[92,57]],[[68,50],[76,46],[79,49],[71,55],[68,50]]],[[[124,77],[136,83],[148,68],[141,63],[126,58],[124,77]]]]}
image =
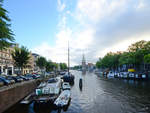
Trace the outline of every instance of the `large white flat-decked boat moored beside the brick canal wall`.
{"type": "Polygon", "coordinates": [[[51,78],[47,81],[46,85],[40,85],[40,87],[35,90],[35,104],[53,104],[61,92],[61,82],[61,79],[51,78]]]}

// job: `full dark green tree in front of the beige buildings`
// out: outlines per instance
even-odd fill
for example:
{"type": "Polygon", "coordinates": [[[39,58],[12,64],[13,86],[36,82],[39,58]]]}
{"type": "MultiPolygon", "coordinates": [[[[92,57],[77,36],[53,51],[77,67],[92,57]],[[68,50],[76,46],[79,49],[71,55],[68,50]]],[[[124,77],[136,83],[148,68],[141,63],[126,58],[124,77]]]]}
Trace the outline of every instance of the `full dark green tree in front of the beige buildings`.
{"type": "Polygon", "coordinates": [[[29,50],[22,46],[21,48],[15,48],[15,51],[12,53],[12,58],[14,59],[15,66],[21,70],[23,74],[23,68],[28,64],[30,59],[29,50]]]}

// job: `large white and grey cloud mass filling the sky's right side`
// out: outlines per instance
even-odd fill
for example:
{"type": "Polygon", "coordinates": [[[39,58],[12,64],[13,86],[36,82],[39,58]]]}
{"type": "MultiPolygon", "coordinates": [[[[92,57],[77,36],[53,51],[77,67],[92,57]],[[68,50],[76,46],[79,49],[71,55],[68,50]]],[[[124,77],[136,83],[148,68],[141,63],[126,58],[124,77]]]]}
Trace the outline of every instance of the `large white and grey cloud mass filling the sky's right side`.
{"type": "MultiPolygon", "coordinates": [[[[58,0],[58,6],[62,4],[69,7],[58,0]]],[[[34,51],[67,62],[69,40],[71,64],[75,65],[81,64],[83,53],[87,62],[96,62],[109,51],[124,51],[136,41],[150,40],[149,0],[77,0],[74,5],[74,10],[62,8],[60,12],[56,45],[43,43],[34,51]]]]}

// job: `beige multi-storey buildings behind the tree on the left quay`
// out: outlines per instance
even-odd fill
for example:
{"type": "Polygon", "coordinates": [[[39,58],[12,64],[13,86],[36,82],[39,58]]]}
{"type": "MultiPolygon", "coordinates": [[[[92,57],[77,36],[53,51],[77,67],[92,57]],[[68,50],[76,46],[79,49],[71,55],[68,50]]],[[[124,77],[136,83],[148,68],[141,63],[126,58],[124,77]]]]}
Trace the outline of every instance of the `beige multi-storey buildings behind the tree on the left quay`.
{"type": "MultiPolygon", "coordinates": [[[[19,47],[19,45],[14,44],[9,48],[0,50],[0,74],[13,75],[19,73],[19,69],[15,67],[12,58],[12,52],[14,52],[15,47],[19,47]]],[[[39,57],[38,54],[30,52],[30,59],[26,67],[23,68],[23,74],[39,71],[38,66],[36,66],[36,60],[39,57]]]]}

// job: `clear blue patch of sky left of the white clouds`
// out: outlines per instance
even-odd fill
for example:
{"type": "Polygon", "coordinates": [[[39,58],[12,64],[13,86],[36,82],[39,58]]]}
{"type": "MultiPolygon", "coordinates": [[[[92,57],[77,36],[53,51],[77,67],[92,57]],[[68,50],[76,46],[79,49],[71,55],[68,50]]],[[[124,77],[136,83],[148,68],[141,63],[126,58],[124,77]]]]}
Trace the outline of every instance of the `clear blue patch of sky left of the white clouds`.
{"type": "Polygon", "coordinates": [[[4,6],[12,19],[16,42],[28,48],[43,40],[55,44],[54,35],[59,19],[55,0],[5,0],[4,6]]]}

